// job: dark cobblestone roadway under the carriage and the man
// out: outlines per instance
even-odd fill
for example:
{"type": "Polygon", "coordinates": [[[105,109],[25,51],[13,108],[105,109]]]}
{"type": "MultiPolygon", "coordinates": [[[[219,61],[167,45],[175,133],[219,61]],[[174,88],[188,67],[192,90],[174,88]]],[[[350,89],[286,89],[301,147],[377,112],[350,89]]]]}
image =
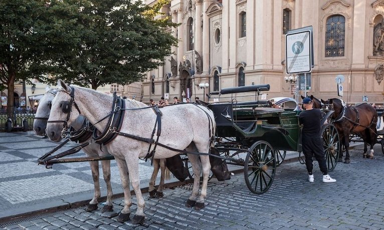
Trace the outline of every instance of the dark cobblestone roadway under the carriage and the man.
{"type": "MultiPolygon", "coordinates": [[[[122,198],[114,199],[115,212],[86,212],[71,208],[16,222],[5,229],[382,229],[384,228],[384,155],[375,145],[374,159],[362,158],[362,145],[351,150],[351,163],[338,163],[330,175],[335,183],[323,183],[317,162],[315,181],[307,181],[305,166],[283,162],[271,188],[251,193],[243,174],[227,181],[211,180],[206,207],[185,207],[191,185],[164,191],[152,199],[144,194],[144,224],[116,221],[122,198]]],[[[135,196],[133,202],[136,203],[135,196]]],[[[101,205],[99,205],[100,207],[101,205]]],[[[135,204],[131,210],[134,212],[135,204]]]]}

